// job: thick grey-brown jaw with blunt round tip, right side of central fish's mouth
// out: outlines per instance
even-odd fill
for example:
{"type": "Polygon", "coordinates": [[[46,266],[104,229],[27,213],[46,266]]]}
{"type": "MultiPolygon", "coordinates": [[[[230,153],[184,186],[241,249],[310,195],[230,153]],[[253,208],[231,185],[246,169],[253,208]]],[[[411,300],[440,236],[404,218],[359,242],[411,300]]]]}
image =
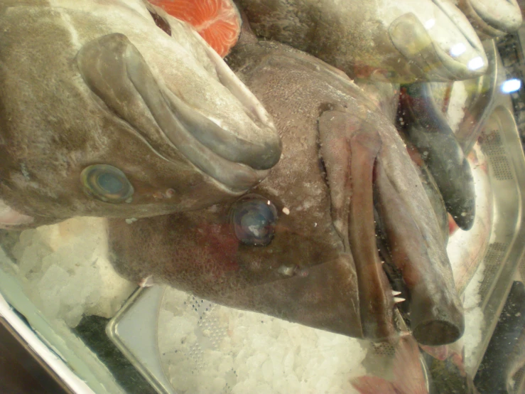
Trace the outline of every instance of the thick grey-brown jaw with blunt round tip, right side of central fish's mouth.
{"type": "Polygon", "coordinates": [[[465,322],[440,225],[399,134],[381,137],[374,196],[386,253],[410,294],[413,336],[421,344],[449,344],[465,322]]]}

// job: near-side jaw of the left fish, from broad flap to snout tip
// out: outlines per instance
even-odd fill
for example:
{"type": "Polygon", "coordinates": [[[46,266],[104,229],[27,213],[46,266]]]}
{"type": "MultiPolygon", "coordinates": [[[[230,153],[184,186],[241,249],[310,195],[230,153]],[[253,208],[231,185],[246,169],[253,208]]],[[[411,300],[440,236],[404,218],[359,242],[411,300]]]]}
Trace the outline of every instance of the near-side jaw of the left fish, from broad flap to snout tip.
{"type": "Polygon", "coordinates": [[[256,185],[266,176],[265,170],[278,161],[278,137],[273,147],[272,142],[249,144],[193,111],[172,92],[163,92],[144,58],[124,35],[115,33],[87,43],[77,55],[77,64],[87,85],[136,129],[140,129],[141,119],[129,107],[144,100],[173,146],[233,191],[256,185]],[[129,106],[122,102],[129,102],[129,106]]]}

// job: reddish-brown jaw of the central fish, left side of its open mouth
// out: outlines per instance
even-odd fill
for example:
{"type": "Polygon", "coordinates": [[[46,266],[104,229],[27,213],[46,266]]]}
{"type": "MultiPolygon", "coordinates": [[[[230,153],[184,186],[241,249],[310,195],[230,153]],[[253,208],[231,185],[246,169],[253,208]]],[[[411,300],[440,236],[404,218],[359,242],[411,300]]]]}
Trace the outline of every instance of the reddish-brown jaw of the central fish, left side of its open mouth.
{"type": "Polygon", "coordinates": [[[323,112],[319,119],[332,220],[345,249],[351,251],[359,288],[360,319],[365,338],[396,336],[394,297],[377,251],[372,175],[381,149],[379,133],[346,112],[323,112]]]}

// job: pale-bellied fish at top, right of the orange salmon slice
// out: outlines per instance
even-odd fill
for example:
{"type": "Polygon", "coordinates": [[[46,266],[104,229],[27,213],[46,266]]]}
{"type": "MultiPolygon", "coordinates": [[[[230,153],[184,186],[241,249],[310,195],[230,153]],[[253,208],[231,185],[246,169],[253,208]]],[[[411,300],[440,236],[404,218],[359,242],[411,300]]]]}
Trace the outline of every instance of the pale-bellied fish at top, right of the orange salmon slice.
{"type": "Polygon", "coordinates": [[[480,38],[451,1],[239,0],[237,4],[257,36],[310,53],[351,78],[446,82],[476,78],[487,71],[480,38]]]}

